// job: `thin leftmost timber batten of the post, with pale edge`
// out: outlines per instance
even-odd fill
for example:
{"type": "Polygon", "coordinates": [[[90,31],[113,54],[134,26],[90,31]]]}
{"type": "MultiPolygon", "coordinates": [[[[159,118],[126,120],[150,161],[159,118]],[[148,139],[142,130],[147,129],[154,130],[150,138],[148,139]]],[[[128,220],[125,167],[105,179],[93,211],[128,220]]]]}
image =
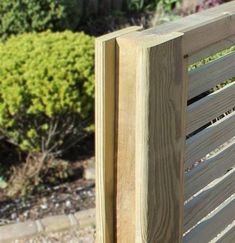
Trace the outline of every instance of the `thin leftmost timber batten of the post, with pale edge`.
{"type": "Polygon", "coordinates": [[[114,134],[116,38],[130,27],[96,39],[96,239],[112,243],[114,213],[114,134]]]}

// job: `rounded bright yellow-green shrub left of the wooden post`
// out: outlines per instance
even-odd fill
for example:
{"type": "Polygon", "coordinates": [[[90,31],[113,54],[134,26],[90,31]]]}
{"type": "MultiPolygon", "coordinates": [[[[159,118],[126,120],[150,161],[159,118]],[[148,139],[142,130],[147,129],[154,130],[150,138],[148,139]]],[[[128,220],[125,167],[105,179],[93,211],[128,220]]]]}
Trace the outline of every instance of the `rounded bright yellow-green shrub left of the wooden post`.
{"type": "Polygon", "coordinates": [[[31,33],[0,43],[0,135],[29,152],[59,153],[93,114],[94,39],[31,33]]]}

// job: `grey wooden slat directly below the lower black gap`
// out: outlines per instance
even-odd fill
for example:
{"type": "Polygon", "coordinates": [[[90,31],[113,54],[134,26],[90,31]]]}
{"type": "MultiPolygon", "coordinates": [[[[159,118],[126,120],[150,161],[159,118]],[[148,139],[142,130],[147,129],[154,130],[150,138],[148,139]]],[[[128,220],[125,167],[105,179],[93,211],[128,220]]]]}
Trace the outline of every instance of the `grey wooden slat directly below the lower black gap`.
{"type": "Polygon", "coordinates": [[[185,167],[191,167],[193,163],[234,136],[235,112],[186,140],[185,167]]]}

